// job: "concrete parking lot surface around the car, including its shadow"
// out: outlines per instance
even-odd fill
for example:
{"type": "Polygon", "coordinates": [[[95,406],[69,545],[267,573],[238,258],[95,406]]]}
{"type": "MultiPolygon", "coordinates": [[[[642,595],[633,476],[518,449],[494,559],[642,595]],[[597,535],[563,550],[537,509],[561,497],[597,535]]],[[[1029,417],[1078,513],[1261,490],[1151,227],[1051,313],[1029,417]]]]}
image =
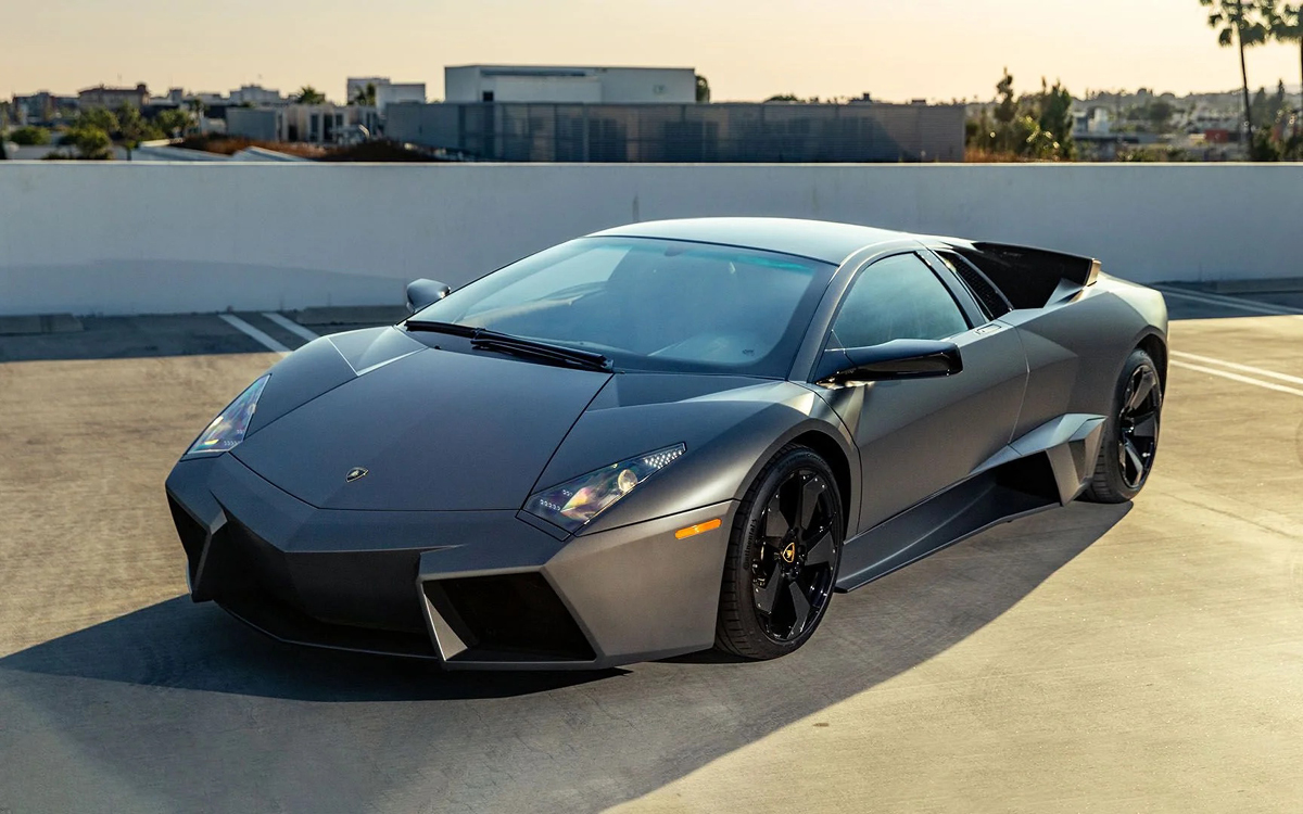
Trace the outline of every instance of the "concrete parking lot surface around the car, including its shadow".
{"type": "Polygon", "coordinates": [[[1135,504],[839,595],[787,659],[594,675],[300,650],[190,603],[163,479],[276,353],[219,316],[0,336],[0,811],[1296,811],[1303,294],[1170,305],[1135,504]]]}

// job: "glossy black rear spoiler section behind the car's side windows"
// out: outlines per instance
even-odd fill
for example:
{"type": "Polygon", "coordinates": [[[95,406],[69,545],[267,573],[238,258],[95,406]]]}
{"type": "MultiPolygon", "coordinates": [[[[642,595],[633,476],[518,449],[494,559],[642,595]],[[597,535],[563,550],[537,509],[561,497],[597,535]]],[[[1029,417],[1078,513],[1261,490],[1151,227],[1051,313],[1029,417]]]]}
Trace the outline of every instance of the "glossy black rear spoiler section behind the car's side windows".
{"type": "Polygon", "coordinates": [[[1076,254],[986,241],[955,241],[950,247],[976,266],[1015,309],[1045,307],[1100,279],[1100,260],[1076,254]]]}

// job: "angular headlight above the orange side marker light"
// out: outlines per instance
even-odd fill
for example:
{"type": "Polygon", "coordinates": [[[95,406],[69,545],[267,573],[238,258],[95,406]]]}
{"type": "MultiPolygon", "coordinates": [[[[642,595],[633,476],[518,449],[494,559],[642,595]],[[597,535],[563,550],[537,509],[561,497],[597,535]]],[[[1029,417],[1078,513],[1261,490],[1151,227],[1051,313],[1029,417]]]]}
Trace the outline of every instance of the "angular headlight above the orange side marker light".
{"type": "Polygon", "coordinates": [[[665,469],[685,449],[683,444],[675,444],[534,492],[525,503],[525,511],[573,534],[615,505],[616,500],[633,491],[638,483],[665,469]]]}

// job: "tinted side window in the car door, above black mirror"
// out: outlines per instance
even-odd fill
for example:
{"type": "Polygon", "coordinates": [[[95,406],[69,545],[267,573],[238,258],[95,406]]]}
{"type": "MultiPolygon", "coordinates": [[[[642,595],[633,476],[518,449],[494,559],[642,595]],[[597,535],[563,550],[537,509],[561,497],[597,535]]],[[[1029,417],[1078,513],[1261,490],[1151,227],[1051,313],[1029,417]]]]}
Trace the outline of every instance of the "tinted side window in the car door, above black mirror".
{"type": "Polygon", "coordinates": [[[945,284],[915,254],[898,254],[865,268],[851,284],[833,323],[833,345],[863,348],[894,339],[945,339],[968,320],[945,284]]]}

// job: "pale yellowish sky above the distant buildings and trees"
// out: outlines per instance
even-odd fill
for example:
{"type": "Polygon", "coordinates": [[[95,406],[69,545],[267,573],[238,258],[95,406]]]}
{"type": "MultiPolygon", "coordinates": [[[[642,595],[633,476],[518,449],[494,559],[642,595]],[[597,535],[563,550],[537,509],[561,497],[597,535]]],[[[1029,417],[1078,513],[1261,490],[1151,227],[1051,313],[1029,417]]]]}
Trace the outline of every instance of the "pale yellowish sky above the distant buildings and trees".
{"type": "MultiPolygon", "coordinates": [[[[348,76],[425,82],[443,66],[696,68],[714,100],[780,92],[881,100],[989,99],[1009,66],[1068,90],[1183,94],[1239,86],[1197,0],[14,0],[4,3],[0,95],[106,82],[225,92],[348,76]]],[[[1250,83],[1299,82],[1291,46],[1250,52],[1250,83]]]]}

